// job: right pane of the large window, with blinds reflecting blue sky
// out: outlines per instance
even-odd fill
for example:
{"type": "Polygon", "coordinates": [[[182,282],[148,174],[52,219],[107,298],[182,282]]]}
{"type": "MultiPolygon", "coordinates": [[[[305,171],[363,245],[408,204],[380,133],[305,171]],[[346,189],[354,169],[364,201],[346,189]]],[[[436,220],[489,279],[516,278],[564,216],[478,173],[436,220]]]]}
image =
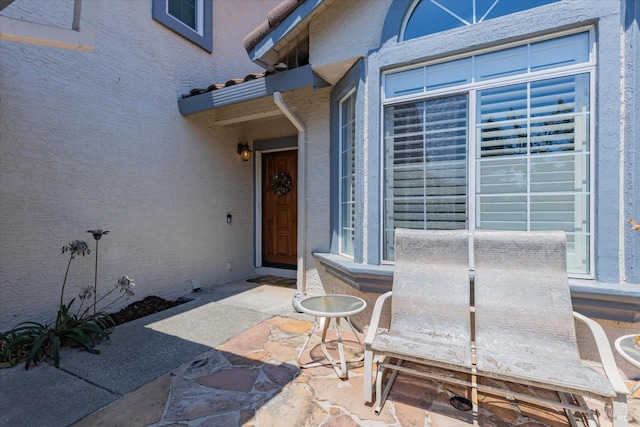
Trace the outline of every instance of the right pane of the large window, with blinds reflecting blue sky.
{"type": "Polygon", "coordinates": [[[589,76],[477,95],[476,226],[563,230],[568,264],[589,267],[589,76]]]}

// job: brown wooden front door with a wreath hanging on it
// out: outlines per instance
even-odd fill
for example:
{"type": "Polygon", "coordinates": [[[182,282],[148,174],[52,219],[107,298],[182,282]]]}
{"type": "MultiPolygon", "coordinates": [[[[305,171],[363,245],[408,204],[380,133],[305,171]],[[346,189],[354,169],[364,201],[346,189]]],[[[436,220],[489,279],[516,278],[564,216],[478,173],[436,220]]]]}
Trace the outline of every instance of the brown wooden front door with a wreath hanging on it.
{"type": "Polygon", "coordinates": [[[262,265],[296,268],[298,151],[262,155],[262,265]]]}

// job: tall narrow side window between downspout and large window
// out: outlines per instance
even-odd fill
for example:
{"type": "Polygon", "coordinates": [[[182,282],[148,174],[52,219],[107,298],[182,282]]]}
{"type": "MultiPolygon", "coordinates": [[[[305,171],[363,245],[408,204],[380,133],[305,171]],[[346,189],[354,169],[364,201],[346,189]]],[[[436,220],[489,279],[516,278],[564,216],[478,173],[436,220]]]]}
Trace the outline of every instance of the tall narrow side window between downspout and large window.
{"type": "Polygon", "coordinates": [[[355,240],[355,93],[340,102],[340,253],[353,256],[355,240]]]}

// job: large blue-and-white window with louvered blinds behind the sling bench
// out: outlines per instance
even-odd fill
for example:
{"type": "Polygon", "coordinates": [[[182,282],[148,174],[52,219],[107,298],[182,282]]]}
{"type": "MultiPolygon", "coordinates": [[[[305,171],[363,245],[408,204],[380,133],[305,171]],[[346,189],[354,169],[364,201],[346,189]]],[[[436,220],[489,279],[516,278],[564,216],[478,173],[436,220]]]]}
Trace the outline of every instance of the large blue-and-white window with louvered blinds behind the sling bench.
{"type": "Polygon", "coordinates": [[[399,227],[563,230],[591,273],[591,37],[385,75],[385,260],[399,227]]]}

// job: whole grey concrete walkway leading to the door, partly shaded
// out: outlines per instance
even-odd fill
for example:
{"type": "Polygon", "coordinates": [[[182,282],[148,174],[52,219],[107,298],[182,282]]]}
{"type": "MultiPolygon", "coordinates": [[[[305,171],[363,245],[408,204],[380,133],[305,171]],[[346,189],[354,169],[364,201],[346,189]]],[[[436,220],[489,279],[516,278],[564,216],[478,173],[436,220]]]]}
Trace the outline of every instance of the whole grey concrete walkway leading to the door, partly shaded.
{"type": "Polygon", "coordinates": [[[0,426],[71,425],[273,316],[302,318],[293,293],[245,281],[204,289],[118,326],[99,355],[65,349],[60,368],[0,369],[0,426]]]}

